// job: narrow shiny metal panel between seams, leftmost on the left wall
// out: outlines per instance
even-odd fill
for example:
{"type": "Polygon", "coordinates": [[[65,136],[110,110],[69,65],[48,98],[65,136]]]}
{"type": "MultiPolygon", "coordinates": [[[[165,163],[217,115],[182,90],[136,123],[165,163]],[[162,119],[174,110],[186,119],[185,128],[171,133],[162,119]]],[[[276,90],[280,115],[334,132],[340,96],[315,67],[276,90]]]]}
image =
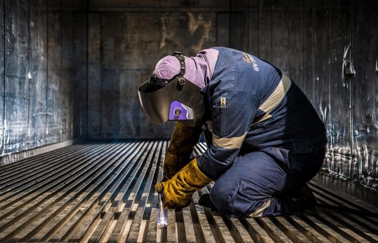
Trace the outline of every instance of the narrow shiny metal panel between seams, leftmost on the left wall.
{"type": "Polygon", "coordinates": [[[4,1],[4,153],[28,148],[28,8],[29,2],[25,0],[4,1]]]}

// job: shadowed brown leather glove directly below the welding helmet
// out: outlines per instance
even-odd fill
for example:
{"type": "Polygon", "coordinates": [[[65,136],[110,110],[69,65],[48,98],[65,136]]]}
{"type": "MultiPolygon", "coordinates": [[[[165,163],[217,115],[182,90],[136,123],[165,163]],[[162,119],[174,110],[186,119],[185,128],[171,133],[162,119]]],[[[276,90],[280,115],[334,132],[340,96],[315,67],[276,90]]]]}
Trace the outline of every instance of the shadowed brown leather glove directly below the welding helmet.
{"type": "Polygon", "coordinates": [[[193,147],[198,143],[201,133],[201,127],[186,126],[182,122],[176,122],[165,154],[162,181],[170,179],[189,163],[193,147]]]}

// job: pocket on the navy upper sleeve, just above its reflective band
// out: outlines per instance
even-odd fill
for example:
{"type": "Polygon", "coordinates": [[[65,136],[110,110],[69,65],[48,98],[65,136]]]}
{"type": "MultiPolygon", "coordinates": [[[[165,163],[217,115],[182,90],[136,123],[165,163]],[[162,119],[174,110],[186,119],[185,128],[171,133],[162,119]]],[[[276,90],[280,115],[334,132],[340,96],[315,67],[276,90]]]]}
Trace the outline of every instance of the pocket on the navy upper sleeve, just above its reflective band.
{"type": "Polygon", "coordinates": [[[228,109],[227,106],[213,106],[213,133],[225,137],[228,135],[228,109]]]}

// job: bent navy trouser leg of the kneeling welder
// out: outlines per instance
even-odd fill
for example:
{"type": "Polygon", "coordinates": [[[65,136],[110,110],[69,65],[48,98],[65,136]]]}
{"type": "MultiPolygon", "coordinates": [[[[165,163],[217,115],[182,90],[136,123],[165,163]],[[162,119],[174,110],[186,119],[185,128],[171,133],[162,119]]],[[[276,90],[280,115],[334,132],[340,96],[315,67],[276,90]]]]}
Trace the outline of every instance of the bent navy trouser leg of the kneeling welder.
{"type": "MultiPolygon", "coordinates": [[[[240,156],[215,182],[211,200],[219,211],[235,217],[292,214],[296,205],[290,193],[315,174],[292,172],[289,164],[265,152],[240,156]]],[[[318,170],[315,167],[311,171],[318,170]]]]}

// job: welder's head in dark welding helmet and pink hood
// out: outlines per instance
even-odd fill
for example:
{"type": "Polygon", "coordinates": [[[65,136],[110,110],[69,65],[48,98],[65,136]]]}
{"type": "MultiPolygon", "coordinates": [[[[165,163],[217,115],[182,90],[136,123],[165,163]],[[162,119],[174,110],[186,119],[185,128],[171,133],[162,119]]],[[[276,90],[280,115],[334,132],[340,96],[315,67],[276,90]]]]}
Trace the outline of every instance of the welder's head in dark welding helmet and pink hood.
{"type": "Polygon", "coordinates": [[[206,49],[189,58],[176,52],[158,61],[153,76],[138,88],[147,117],[156,123],[202,125],[206,109],[200,91],[211,80],[218,54],[206,49]]]}

